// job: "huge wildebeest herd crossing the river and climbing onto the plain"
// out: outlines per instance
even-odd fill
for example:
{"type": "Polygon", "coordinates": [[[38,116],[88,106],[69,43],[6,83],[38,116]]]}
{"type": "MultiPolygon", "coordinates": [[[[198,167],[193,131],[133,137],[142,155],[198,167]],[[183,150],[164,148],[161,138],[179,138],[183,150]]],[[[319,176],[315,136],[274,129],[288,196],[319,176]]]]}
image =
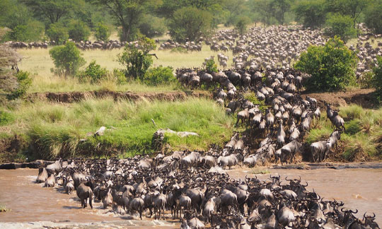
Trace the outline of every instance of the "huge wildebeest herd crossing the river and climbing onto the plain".
{"type": "MultiPolygon", "coordinates": [[[[374,37],[378,35],[363,35],[350,47],[359,50],[357,76],[369,71],[376,55],[382,54],[379,42],[378,47],[371,46],[374,37]],[[364,43],[369,39],[371,43],[364,43]]],[[[301,95],[303,82],[311,76],[291,69],[291,62],[309,45],[324,45],[326,40],[321,30],[272,26],[251,28],[242,36],[221,30],[208,40],[163,42],[160,49],[200,51],[204,42],[220,52],[217,60],[222,71],[177,69],[175,75],[187,88],[212,90],[216,102],[244,130],[235,132],[224,147],[213,146],[209,151],[127,159],[60,159],[42,166],[36,182],[45,187],[62,186],[68,194],[76,192],[83,208],[87,204],[93,208],[93,201],[101,201],[103,208],[120,215],[178,218],[180,228],[379,228],[375,214],[357,218],[357,210],[308,191],[301,178],[270,175],[267,181],[257,177],[236,180],[226,172],[236,165],[293,163],[297,153],[320,162],[335,148],[346,131],[344,119],[329,104],[320,107],[315,98],[301,95]],[[234,56],[231,66],[226,52],[234,56]],[[311,124],[321,116],[320,108],[332,122],[332,134],[304,143],[311,124]]],[[[125,45],[113,42],[106,44],[111,48],[125,45]]],[[[92,49],[95,44],[98,42],[78,45],[92,49]]],[[[105,47],[105,43],[99,46],[105,47]]],[[[204,66],[209,59],[214,56],[204,59],[204,66]]]]}

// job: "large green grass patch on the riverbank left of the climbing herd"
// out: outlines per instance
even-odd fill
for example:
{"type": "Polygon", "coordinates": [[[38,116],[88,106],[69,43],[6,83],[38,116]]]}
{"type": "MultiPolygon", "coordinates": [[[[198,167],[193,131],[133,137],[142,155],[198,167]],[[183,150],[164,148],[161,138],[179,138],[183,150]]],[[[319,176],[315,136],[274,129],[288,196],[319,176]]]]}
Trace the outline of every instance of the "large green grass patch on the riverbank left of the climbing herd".
{"type": "Polygon", "coordinates": [[[37,101],[25,102],[9,112],[15,119],[0,131],[8,129],[11,134],[24,136],[29,143],[28,158],[152,153],[151,137],[160,128],[199,134],[187,138],[166,135],[165,143],[172,150],[206,150],[212,143],[227,141],[233,131],[233,119],[222,107],[212,100],[196,98],[183,102],[112,98],[72,104],[37,101]],[[101,126],[108,128],[103,136],[87,136],[101,126]]]}

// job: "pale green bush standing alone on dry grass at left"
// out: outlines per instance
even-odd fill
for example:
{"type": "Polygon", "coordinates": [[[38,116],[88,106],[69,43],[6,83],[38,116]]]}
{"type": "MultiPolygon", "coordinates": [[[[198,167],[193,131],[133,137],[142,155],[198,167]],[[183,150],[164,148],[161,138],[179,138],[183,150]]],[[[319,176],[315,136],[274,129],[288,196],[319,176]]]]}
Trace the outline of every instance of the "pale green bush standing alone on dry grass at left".
{"type": "Polygon", "coordinates": [[[59,76],[75,76],[79,68],[86,63],[74,42],[53,47],[49,54],[54,61],[54,66],[56,66],[56,74],[59,76]]]}

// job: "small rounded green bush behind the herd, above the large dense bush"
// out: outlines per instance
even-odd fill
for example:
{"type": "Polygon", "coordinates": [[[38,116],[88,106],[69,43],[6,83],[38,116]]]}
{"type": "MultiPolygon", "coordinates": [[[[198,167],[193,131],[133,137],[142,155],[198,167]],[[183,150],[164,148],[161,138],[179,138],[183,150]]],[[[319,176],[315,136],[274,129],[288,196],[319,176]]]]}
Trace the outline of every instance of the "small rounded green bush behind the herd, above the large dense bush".
{"type": "Polygon", "coordinates": [[[353,20],[350,16],[330,13],[326,20],[325,33],[330,37],[338,36],[347,42],[357,36],[357,30],[353,28],[353,20]]]}

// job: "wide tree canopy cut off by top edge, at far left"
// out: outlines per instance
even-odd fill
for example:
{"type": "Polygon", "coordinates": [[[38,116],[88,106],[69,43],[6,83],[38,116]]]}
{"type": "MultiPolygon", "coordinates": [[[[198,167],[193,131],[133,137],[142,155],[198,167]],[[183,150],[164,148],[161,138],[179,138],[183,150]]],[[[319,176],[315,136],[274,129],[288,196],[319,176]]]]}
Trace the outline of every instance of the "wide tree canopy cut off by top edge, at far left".
{"type": "Polygon", "coordinates": [[[32,9],[36,17],[46,18],[50,23],[57,23],[83,4],[82,0],[21,0],[21,2],[32,9]]]}

